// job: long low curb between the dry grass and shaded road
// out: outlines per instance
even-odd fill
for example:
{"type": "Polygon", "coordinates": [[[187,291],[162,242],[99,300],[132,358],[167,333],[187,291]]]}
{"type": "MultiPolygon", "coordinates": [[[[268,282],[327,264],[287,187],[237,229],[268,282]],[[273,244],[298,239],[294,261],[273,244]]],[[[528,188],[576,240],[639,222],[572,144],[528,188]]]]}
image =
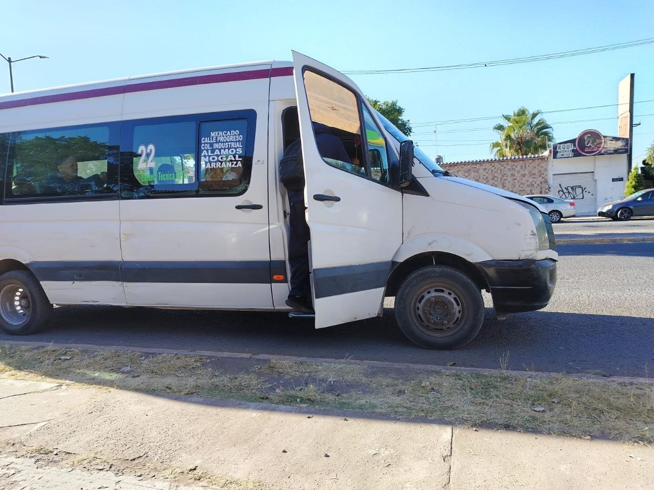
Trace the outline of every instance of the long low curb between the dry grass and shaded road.
{"type": "Polygon", "coordinates": [[[544,376],[559,376],[566,374],[574,378],[583,378],[594,381],[611,381],[619,383],[645,383],[654,384],[654,378],[642,378],[638,376],[600,376],[598,374],[554,372],[554,371],[522,371],[522,370],[502,370],[493,368],[469,368],[457,366],[441,366],[430,364],[412,364],[412,363],[392,363],[388,361],[366,361],[360,359],[330,359],[328,357],[299,357],[296,355],[279,355],[279,354],[248,354],[239,352],[221,352],[221,351],[204,351],[204,350],[184,350],[184,349],[158,349],[142,348],[137,346],[97,346],[94,344],[60,344],[57,342],[30,342],[22,340],[3,340],[0,345],[7,344],[12,346],[31,346],[31,347],[56,347],[65,349],[80,350],[119,350],[119,351],[137,351],[152,354],[186,354],[186,355],[205,355],[207,357],[218,357],[227,359],[260,359],[262,361],[294,361],[303,363],[321,363],[321,364],[349,364],[355,366],[395,368],[395,369],[415,369],[430,372],[471,372],[477,374],[514,374],[515,376],[530,376],[540,378],[544,376]]]}

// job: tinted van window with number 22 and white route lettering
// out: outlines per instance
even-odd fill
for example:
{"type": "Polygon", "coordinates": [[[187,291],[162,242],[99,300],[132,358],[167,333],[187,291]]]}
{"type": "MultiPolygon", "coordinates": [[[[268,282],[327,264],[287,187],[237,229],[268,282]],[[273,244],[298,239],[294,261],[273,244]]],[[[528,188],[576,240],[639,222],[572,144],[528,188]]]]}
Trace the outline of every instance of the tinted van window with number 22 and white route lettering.
{"type": "Polygon", "coordinates": [[[239,195],[252,172],[256,112],[123,123],[121,195],[239,195]]]}

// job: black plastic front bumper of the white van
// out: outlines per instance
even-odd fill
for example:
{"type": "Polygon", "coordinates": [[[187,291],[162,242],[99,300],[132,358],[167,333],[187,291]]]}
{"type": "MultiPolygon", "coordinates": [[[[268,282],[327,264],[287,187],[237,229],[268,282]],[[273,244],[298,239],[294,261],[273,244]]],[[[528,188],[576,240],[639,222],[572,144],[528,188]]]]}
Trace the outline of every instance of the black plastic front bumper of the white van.
{"type": "Polygon", "coordinates": [[[489,260],[477,268],[489,284],[498,315],[545,308],[557,284],[554,259],[489,260]]]}

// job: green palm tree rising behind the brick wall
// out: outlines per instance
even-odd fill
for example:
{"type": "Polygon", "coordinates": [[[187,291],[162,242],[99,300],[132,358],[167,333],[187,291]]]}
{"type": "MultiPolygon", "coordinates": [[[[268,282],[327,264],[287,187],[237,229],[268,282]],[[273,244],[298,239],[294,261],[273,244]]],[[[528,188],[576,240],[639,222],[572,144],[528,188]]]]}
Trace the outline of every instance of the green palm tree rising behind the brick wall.
{"type": "Polygon", "coordinates": [[[500,135],[500,140],[490,144],[490,151],[498,158],[519,155],[540,155],[549,143],[554,141],[552,127],[540,117],[540,110],[529,112],[525,107],[514,110],[506,121],[497,123],[492,129],[500,135]]]}

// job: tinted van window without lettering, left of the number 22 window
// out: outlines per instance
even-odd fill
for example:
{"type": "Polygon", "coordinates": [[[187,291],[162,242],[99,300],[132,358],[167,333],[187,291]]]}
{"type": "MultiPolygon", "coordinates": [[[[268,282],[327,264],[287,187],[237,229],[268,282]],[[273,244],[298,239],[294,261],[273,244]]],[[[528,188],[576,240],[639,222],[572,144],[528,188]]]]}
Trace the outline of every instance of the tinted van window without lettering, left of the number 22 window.
{"type": "Polygon", "coordinates": [[[114,123],[12,133],[5,197],[115,192],[117,127],[114,123]]]}

